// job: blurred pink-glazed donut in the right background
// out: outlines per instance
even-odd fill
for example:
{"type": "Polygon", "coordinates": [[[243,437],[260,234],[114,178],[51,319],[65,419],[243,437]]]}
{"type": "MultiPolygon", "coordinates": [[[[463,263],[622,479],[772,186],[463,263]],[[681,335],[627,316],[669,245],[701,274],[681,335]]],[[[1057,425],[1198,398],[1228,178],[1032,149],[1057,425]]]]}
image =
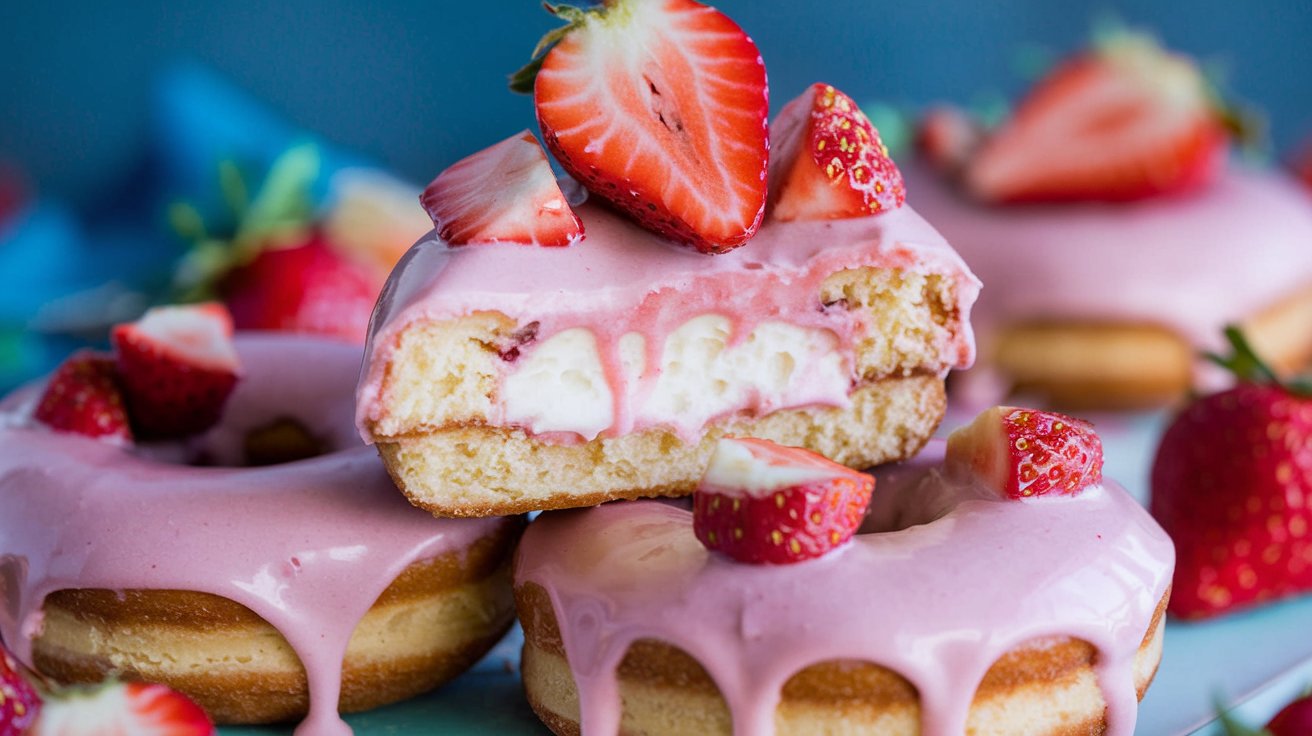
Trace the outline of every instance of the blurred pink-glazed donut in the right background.
{"type": "Polygon", "coordinates": [[[922,164],[905,176],[988,285],[979,363],[958,377],[980,403],[1178,400],[1214,380],[1198,353],[1223,349],[1231,323],[1277,369],[1312,363],[1312,198],[1284,174],[1235,167],[1191,195],[1033,206],[968,201],[922,164]]]}

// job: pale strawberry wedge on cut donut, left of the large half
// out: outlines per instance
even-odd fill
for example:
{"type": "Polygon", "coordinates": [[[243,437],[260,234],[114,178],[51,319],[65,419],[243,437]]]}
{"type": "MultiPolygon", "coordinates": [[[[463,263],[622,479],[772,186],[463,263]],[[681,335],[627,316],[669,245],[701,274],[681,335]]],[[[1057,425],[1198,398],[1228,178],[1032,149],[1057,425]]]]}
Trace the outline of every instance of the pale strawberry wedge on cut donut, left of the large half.
{"type": "Polygon", "coordinates": [[[461,159],[419,201],[451,245],[569,245],[583,239],[583,223],[527,130],[461,159]]]}

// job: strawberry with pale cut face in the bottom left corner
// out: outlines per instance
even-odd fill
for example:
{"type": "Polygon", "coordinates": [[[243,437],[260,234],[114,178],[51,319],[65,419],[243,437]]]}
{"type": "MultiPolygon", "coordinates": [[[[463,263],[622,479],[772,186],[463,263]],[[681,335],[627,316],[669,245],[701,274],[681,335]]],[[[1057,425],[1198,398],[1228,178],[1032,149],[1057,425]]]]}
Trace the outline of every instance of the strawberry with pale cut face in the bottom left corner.
{"type": "Polygon", "coordinates": [[[209,736],[214,724],[186,695],[164,685],[110,682],[46,701],[31,736],[209,736]]]}

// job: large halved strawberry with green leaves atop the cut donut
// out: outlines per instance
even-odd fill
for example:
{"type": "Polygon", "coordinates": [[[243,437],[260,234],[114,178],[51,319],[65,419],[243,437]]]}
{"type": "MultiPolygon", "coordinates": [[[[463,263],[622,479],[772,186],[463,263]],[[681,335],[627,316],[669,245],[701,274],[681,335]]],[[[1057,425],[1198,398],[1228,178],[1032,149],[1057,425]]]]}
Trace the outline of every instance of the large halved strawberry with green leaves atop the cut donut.
{"type": "Polygon", "coordinates": [[[691,0],[547,5],[569,25],[516,75],[547,148],[644,227],[703,253],[736,248],[765,206],[765,64],[720,12],[691,0]],[[541,63],[541,68],[534,66],[541,63]]]}

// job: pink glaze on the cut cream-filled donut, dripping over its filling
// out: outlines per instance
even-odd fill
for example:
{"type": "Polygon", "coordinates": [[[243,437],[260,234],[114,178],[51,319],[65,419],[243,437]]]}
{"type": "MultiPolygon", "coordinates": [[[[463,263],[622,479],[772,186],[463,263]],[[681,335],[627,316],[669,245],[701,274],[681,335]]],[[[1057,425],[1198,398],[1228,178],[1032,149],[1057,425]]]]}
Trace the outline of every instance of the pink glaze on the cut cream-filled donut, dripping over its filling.
{"type": "MultiPolygon", "coordinates": [[[[840,342],[850,344],[862,327],[858,317],[842,308],[825,308],[816,299],[825,277],[848,268],[897,268],[954,279],[959,325],[941,346],[939,370],[946,374],[951,367],[967,367],[975,358],[970,310],[979,281],[911,207],[844,220],[766,222],[747,245],[720,256],[673,245],[597,205],[583,205],[576,213],[585,237],[568,248],[449,248],[429,234],[407,253],[392,272],[370,325],[356,417],[366,442],[371,441],[367,425],[387,412],[382,380],[400,333],[421,320],[475,311],[496,310],[521,324],[538,321],[539,344],[564,329],[590,329],[615,400],[615,419],[602,433],[609,436],[646,429],[634,417],[642,386],[630,391],[621,370],[622,335],[646,336],[648,352],[655,352],[685,321],[719,314],[732,320],[736,338],[761,321],[783,320],[832,331],[840,342]]],[[[659,354],[648,365],[659,365],[659,354]]],[[[639,380],[649,387],[653,379],[644,375],[639,380]]],[[[845,396],[827,399],[842,401],[845,396]]],[[[741,411],[786,408],[764,405],[760,396],[752,400],[756,404],[741,411]]],[[[815,396],[803,403],[815,403],[815,396]]],[[[489,420],[501,424],[500,417],[489,420]]]]}

